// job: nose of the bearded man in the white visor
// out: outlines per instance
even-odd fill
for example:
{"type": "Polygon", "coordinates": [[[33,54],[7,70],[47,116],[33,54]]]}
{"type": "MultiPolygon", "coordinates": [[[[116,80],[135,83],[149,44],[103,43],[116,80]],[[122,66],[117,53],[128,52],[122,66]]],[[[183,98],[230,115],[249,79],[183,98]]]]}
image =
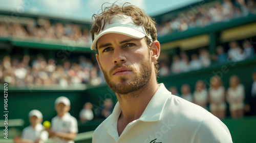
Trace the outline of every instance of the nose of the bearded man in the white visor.
{"type": "Polygon", "coordinates": [[[116,47],[114,49],[114,53],[113,53],[113,63],[114,64],[126,62],[126,57],[125,57],[124,52],[125,51],[121,47],[116,47]]]}

